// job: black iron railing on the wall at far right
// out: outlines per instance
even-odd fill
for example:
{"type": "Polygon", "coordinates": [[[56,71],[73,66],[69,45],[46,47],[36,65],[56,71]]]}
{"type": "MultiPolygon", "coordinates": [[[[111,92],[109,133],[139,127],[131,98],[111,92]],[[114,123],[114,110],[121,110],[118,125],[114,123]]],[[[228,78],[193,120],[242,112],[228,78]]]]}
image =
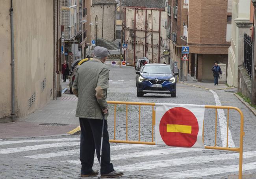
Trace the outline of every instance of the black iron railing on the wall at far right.
{"type": "Polygon", "coordinates": [[[244,61],[245,66],[250,78],[252,78],[252,38],[245,33],[244,35],[244,61]]]}

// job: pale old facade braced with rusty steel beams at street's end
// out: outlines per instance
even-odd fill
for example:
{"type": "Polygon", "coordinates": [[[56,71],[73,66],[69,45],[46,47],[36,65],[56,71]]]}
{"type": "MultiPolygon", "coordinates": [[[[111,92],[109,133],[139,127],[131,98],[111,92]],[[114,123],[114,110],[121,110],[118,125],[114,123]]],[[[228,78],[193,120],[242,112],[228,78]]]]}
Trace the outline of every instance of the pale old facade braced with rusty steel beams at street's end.
{"type": "Polygon", "coordinates": [[[150,63],[169,63],[163,55],[169,50],[165,9],[125,7],[124,13],[126,61],[134,64],[137,59],[148,57],[150,63]]]}

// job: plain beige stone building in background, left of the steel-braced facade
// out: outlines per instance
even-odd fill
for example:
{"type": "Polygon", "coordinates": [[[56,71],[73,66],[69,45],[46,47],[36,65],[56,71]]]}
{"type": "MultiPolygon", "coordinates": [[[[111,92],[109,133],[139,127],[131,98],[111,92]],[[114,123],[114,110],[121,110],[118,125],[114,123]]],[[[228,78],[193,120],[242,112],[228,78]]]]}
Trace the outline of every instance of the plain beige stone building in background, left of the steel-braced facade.
{"type": "MultiPolygon", "coordinates": [[[[91,7],[91,22],[95,23],[95,17],[98,16],[98,39],[105,39],[108,41],[115,40],[115,4],[105,4],[104,13],[103,5],[93,5],[91,7]],[[104,16],[104,17],[103,17],[104,16]],[[103,27],[102,27],[102,20],[103,27]],[[102,36],[103,28],[103,36],[102,36]]],[[[93,39],[96,39],[95,24],[91,26],[91,35],[93,39]]]]}

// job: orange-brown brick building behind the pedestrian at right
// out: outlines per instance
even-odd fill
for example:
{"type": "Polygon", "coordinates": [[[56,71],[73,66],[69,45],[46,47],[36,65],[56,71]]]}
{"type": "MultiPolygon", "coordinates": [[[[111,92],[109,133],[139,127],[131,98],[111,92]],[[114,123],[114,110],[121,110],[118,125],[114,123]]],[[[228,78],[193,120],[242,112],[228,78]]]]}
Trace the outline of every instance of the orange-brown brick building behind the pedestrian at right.
{"type": "Polygon", "coordinates": [[[188,72],[198,81],[213,79],[211,67],[215,61],[228,64],[231,12],[231,0],[189,0],[188,72]]]}

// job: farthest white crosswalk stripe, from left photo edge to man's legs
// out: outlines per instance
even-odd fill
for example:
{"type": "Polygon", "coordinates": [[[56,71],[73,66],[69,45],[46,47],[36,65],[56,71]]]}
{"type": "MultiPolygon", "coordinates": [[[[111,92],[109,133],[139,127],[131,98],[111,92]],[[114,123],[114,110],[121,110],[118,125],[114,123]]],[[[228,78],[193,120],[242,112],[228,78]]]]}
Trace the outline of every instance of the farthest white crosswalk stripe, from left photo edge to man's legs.
{"type": "Polygon", "coordinates": [[[54,139],[36,139],[36,140],[9,140],[9,141],[3,141],[0,142],[1,145],[7,145],[7,144],[20,144],[24,142],[59,142],[59,141],[75,141],[80,140],[80,138],[54,138],[54,139]]]}

